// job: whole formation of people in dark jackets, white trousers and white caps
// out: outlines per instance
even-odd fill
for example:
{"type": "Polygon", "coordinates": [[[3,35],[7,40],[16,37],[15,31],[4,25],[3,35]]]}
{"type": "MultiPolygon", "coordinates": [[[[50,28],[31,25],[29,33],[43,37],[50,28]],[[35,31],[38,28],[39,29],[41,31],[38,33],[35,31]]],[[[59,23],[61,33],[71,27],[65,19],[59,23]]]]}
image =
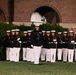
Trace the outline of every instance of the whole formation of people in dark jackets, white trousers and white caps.
{"type": "Polygon", "coordinates": [[[23,37],[20,37],[19,29],[7,30],[6,35],[6,60],[11,62],[19,62],[21,48],[23,61],[34,64],[76,61],[76,34],[73,31],[40,31],[39,25],[35,25],[35,30],[24,31],[23,37]]]}

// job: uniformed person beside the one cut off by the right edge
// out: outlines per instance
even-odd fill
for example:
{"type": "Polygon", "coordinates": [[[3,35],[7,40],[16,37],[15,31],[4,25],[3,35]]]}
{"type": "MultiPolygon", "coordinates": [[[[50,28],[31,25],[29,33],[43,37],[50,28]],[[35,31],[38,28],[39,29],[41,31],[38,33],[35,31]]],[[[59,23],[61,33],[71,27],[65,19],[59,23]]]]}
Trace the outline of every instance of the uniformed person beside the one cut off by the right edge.
{"type": "Polygon", "coordinates": [[[68,62],[73,62],[74,58],[74,32],[69,31],[68,37],[68,62]]]}

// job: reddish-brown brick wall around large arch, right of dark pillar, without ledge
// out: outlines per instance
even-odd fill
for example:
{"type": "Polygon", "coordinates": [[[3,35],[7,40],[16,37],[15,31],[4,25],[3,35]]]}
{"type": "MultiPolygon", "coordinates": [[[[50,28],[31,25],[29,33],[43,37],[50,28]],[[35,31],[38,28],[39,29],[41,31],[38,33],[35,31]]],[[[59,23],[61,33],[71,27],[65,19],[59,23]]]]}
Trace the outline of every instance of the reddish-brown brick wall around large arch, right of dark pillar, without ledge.
{"type": "Polygon", "coordinates": [[[41,6],[55,9],[61,23],[76,23],[75,0],[15,0],[14,21],[30,22],[31,14],[41,6]]]}

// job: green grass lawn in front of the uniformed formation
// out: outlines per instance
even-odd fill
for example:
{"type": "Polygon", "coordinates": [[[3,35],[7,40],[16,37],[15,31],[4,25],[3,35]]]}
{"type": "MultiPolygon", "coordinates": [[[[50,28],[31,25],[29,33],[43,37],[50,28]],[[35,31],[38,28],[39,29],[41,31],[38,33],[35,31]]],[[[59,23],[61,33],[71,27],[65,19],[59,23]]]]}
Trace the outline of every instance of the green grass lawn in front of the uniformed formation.
{"type": "Polygon", "coordinates": [[[0,61],[0,75],[76,75],[76,63],[46,63],[0,61]]]}

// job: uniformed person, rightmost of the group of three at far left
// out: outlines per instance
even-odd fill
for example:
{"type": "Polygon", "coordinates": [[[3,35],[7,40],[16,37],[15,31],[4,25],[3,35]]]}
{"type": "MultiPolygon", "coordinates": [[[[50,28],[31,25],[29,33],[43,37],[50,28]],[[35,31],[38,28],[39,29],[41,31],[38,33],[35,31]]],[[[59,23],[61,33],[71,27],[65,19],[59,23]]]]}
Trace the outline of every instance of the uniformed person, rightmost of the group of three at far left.
{"type": "Polygon", "coordinates": [[[15,29],[15,40],[14,40],[14,61],[19,62],[19,54],[21,48],[20,30],[15,29]]]}

